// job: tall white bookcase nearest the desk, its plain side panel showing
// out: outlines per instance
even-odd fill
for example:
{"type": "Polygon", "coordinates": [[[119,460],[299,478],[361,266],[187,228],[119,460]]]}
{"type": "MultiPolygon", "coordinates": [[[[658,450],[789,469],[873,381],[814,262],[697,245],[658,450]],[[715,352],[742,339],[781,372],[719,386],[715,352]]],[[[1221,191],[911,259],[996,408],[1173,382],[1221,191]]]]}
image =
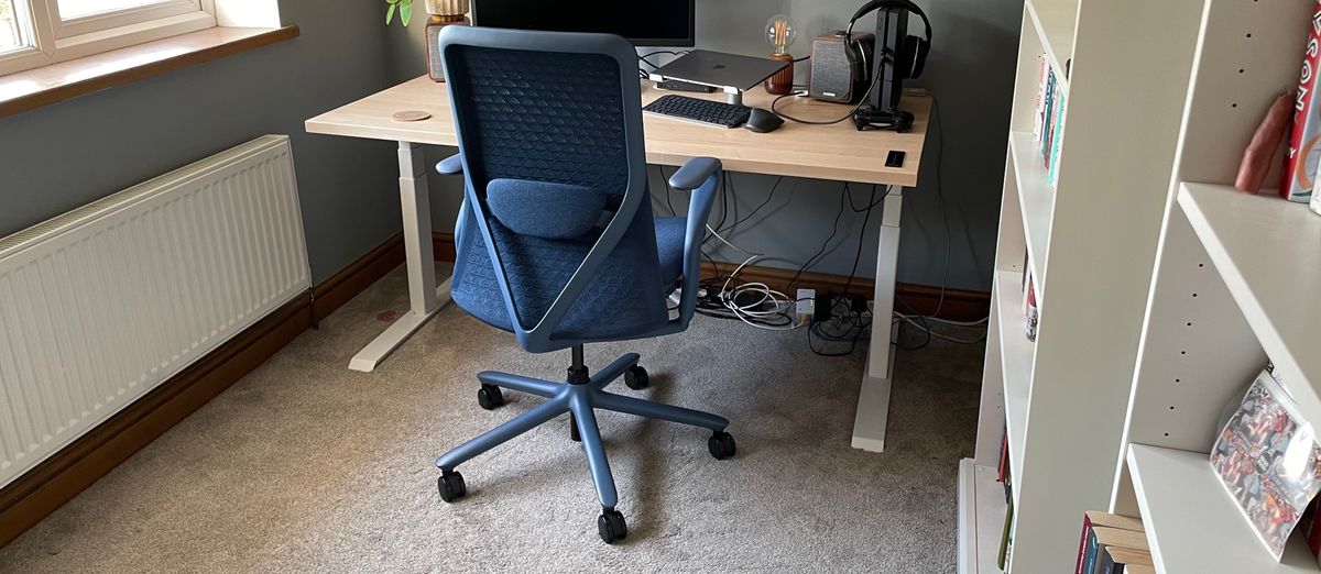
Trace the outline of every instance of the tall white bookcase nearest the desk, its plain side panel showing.
{"type": "MultiPolygon", "coordinates": [[[[1083,512],[1111,499],[1203,1],[1024,5],[978,447],[964,463],[993,475],[1007,438],[1011,573],[1071,571],[1083,512]],[[1054,186],[1033,136],[1042,57],[1066,100],[1054,186]],[[1025,255],[1036,343],[1021,311],[1025,255]]],[[[1003,508],[960,512],[976,513],[960,528],[1004,521],[1003,508]]],[[[982,556],[997,546],[960,549],[960,573],[1000,571],[982,556]]]]}

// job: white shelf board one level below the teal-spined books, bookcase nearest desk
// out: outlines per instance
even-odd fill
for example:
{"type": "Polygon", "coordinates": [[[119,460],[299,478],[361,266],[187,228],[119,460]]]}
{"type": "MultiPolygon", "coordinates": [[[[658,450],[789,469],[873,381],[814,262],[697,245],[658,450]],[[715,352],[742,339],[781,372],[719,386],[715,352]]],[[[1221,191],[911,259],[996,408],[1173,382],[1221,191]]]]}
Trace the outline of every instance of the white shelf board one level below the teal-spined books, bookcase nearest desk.
{"type": "MultiPolygon", "coordinates": [[[[1028,431],[1028,399],[1032,393],[1032,355],[1036,346],[1024,335],[1022,273],[997,271],[995,273],[996,314],[1000,318],[1000,366],[1004,371],[1004,417],[1009,434],[1009,471],[1017,475],[1022,468],[1024,443],[1028,431]]],[[[1017,482],[1013,497],[1018,499],[1017,482]]]]}

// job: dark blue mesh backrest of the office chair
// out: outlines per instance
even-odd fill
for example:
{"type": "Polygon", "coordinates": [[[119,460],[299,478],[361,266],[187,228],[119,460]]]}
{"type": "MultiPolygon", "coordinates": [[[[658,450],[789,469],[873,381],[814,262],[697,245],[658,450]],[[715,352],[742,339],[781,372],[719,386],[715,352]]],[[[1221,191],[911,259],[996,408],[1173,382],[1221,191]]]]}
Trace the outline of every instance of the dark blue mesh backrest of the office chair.
{"type": "MultiPolygon", "coordinates": [[[[609,54],[452,45],[445,65],[465,177],[478,199],[464,215],[472,224],[457,238],[454,301],[478,317],[482,313],[473,306],[503,305],[494,282],[502,271],[517,314],[513,327],[530,331],[587,259],[604,223],[573,239],[519,235],[486,208],[485,190],[503,178],[590,187],[608,195],[602,222],[620,208],[630,173],[641,178],[634,186],[645,194],[646,166],[631,166],[629,160],[629,146],[642,141],[641,133],[626,137],[620,62],[609,54]],[[502,269],[490,263],[476,218],[489,224],[502,269]]],[[[668,321],[662,288],[650,201],[642,201],[624,238],[551,336],[604,340],[659,329],[668,321]]]]}

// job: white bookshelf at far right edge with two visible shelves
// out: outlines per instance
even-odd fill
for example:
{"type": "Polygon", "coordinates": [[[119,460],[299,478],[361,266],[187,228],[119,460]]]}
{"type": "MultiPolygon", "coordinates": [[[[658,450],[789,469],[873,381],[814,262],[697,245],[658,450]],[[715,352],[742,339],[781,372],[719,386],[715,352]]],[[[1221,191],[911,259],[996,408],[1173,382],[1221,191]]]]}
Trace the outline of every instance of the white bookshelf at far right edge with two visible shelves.
{"type": "Polygon", "coordinates": [[[1159,573],[1321,571],[1297,534],[1275,562],[1209,461],[1222,412],[1267,358],[1321,422],[1321,216],[1230,186],[1297,82],[1314,5],[1207,0],[1202,13],[1110,503],[1143,519],[1159,573]]]}

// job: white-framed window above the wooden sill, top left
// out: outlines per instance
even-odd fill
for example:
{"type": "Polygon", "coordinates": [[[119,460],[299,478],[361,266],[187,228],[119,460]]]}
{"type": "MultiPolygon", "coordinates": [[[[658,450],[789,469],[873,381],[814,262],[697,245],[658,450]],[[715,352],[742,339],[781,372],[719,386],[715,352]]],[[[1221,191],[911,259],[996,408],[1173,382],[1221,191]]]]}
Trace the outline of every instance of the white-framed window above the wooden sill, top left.
{"type": "Polygon", "coordinates": [[[0,0],[0,75],[215,25],[213,0],[0,0]]]}

